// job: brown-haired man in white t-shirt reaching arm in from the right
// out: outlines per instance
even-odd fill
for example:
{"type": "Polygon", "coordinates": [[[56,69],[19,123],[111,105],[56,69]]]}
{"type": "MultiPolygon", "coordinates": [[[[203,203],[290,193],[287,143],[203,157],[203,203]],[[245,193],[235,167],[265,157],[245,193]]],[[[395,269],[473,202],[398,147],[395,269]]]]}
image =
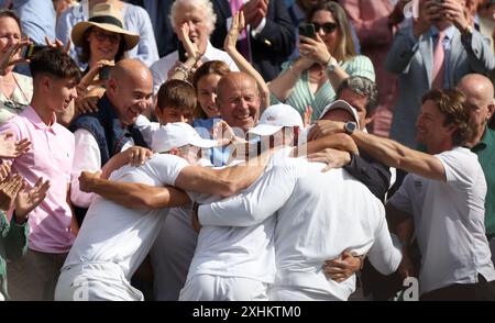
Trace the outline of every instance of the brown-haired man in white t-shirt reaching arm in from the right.
{"type": "MultiPolygon", "coordinates": [[[[344,131],[343,123],[333,127],[344,131]]],[[[462,147],[473,134],[465,96],[452,89],[429,91],[416,127],[428,154],[362,131],[351,133],[373,158],[411,172],[387,204],[391,229],[403,244],[399,272],[415,276],[408,256],[415,234],[422,300],[495,300],[484,226],[485,177],[476,155],[462,147]]]]}

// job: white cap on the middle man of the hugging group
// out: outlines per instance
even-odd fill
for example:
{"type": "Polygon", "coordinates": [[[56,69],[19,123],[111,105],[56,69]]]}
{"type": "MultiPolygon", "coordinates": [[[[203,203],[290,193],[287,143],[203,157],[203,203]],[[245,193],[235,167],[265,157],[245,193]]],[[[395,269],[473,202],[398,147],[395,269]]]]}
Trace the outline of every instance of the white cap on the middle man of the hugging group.
{"type": "Polygon", "coordinates": [[[284,126],[298,126],[302,129],[302,119],[299,112],[293,107],[278,103],[266,108],[257,125],[248,132],[258,136],[270,136],[280,131],[284,126]]]}

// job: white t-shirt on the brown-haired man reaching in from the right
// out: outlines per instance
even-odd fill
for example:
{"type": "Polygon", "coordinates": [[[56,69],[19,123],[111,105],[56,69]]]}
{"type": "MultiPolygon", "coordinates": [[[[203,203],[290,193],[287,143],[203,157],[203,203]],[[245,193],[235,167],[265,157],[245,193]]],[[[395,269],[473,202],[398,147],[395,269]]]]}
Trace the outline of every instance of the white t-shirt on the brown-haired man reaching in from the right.
{"type": "Polygon", "coordinates": [[[420,292],[453,283],[495,279],[485,236],[486,181],[475,154],[466,148],[436,155],[447,182],[410,174],[391,203],[414,215],[421,252],[420,292]]]}

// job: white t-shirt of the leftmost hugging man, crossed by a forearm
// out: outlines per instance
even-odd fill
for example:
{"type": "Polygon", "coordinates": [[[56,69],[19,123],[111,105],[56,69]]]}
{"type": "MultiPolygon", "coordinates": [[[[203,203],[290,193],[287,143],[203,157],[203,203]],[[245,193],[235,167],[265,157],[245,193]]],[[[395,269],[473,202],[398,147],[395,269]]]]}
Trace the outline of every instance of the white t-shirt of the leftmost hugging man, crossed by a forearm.
{"type": "MultiPolygon", "coordinates": [[[[111,180],[150,186],[173,186],[189,164],[177,156],[155,154],[141,167],[124,166],[111,180]]],[[[89,207],[65,265],[116,263],[128,279],[143,261],[155,241],[168,209],[128,209],[98,197],[89,207]]]]}

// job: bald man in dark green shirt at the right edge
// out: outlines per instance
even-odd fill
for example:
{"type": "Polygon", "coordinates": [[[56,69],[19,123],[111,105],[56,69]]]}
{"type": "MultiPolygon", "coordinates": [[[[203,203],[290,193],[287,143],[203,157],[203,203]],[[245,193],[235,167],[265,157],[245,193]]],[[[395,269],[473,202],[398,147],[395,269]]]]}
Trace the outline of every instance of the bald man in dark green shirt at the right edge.
{"type": "Polygon", "coordinates": [[[495,263],[495,132],[487,126],[495,110],[494,88],[480,74],[464,76],[458,88],[468,97],[471,121],[475,124],[475,135],[468,145],[477,155],[486,178],[485,230],[495,263]]]}

